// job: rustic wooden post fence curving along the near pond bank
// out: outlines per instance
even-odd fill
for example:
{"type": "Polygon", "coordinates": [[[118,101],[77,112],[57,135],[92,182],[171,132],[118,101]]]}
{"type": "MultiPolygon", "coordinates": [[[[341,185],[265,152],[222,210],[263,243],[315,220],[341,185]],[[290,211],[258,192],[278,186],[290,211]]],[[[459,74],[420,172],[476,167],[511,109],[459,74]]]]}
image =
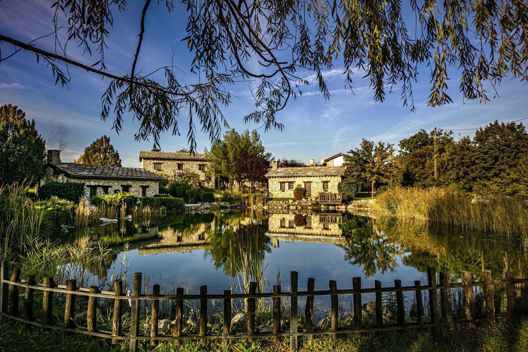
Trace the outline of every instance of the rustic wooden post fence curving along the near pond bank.
{"type": "Polygon", "coordinates": [[[492,280],[491,271],[484,271],[484,281],[473,281],[472,273],[462,272],[461,283],[450,283],[450,274],[441,272],[439,275],[439,284],[435,268],[427,268],[428,284],[421,285],[420,281],[414,281],[414,286],[402,286],[400,280],[394,280],[394,287],[382,288],[381,282],[376,280],[375,287],[362,288],[361,277],[352,279],[352,289],[337,289],[335,281],[329,282],[329,290],[315,291],[315,280],[308,279],[308,291],[297,290],[297,272],[290,273],[290,292],[281,292],[281,286],[275,285],[272,293],[256,293],[257,283],[251,282],[248,294],[232,294],[230,290],[224,291],[223,294],[208,294],[207,286],[200,287],[200,294],[184,294],[183,288],[178,288],[176,294],[159,294],[159,285],[154,285],[151,294],[142,294],[142,273],[135,273],[132,281],[131,296],[123,294],[121,280],[114,281],[114,292],[100,291],[96,286],[87,288],[78,288],[76,280],[68,280],[66,285],[56,285],[52,277],[44,277],[43,283],[35,283],[35,277],[30,275],[25,280],[20,279],[20,268],[14,267],[9,275],[9,262],[2,262],[2,280],[0,281],[0,302],[1,314],[14,320],[22,321],[27,324],[41,327],[43,330],[62,330],[64,334],[73,332],[88,335],[89,338],[103,337],[112,339],[112,344],[117,344],[119,340],[129,340],[129,350],[136,351],[138,340],[150,340],[151,345],[156,345],[157,341],[173,340],[175,345],[180,345],[181,340],[200,340],[201,344],[206,344],[208,339],[228,339],[228,338],[247,338],[252,342],[254,338],[272,338],[274,341],[280,341],[281,337],[290,337],[290,348],[296,350],[298,346],[298,337],[306,336],[312,340],[314,335],[332,335],[336,338],[338,334],[355,334],[360,336],[365,332],[391,331],[406,329],[424,329],[430,328],[431,333],[436,338],[440,338],[441,327],[452,329],[455,324],[465,324],[472,327],[476,322],[487,321],[494,324],[497,319],[512,319],[524,317],[515,313],[515,284],[528,283],[528,279],[513,279],[512,272],[505,272],[505,280],[492,280]],[[495,312],[494,293],[495,285],[505,285],[507,299],[506,313],[495,312]],[[475,299],[473,288],[482,286],[482,292],[485,299],[486,312],[476,314],[475,299]],[[18,289],[25,288],[23,314],[19,310],[18,289]],[[462,288],[464,316],[456,317],[452,312],[451,289],[462,288]],[[42,317],[36,321],[33,314],[33,295],[34,290],[43,291],[42,300],[42,317]],[[438,296],[440,291],[440,297],[438,296]],[[408,322],[405,319],[404,292],[414,291],[416,294],[416,321],[408,322]],[[429,296],[429,321],[425,321],[422,292],[427,291],[429,296]],[[395,292],[397,302],[397,323],[384,324],[382,293],[395,292]],[[52,316],[52,302],[54,293],[65,294],[65,311],[64,321],[55,322],[52,316]],[[375,316],[376,325],[363,325],[362,321],[362,303],[361,295],[364,293],[375,293],[375,316]],[[353,326],[338,327],[338,295],[353,295],[353,326]],[[75,314],[75,301],[77,295],[88,296],[87,327],[79,327],[73,321],[75,314]],[[314,296],[329,295],[331,298],[331,328],[316,329],[314,325],[314,296]],[[290,298],[290,328],[288,332],[281,332],[281,297],[290,298]],[[306,328],[298,329],[298,297],[306,297],[306,328]],[[100,298],[114,300],[114,310],[112,318],[112,331],[100,331],[97,328],[96,308],[97,301],[100,298]],[[273,300],[273,333],[259,334],[254,331],[256,299],[272,298],[273,300]],[[208,334],[208,301],[212,299],[223,299],[223,329],[222,335],[208,334]],[[233,299],[247,300],[247,332],[234,334],[231,332],[231,303],[233,299]],[[130,300],[131,306],[131,324],[130,334],[121,334],[121,316],[122,301],[130,300]],[[139,334],[140,320],[140,300],[152,300],[152,314],[150,316],[150,336],[139,334]],[[158,336],[157,316],[158,304],[160,300],[171,300],[175,310],[175,324],[172,329],[172,336],[158,336]],[[197,335],[183,335],[183,307],[185,300],[200,300],[200,332],[197,335]]]}

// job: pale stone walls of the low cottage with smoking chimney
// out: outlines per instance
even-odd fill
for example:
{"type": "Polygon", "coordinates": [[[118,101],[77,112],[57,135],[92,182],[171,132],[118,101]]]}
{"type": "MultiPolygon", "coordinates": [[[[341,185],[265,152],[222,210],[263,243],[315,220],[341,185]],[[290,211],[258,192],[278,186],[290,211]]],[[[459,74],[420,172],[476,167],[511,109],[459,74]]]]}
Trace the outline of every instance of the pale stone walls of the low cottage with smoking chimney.
{"type": "Polygon", "coordinates": [[[147,187],[147,197],[152,197],[154,194],[158,194],[158,181],[153,180],[127,180],[127,179],[107,179],[107,178],[68,178],[62,173],[54,174],[54,170],[50,167],[46,168],[45,171],[45,180],[46,182],[83,182],[84,186],[84,196],[83,198],[88,200],[90,198],[90,187],[89,186],[99,186],[97,187],[96,194],[97,196],[102,196],[102,187],[108,186],[108,193],[115,193],[114,191],[122,191],[122,186],[130,186],[129,193],[134,193],[136,196],[141,196],[142,187],[147,187]]]}

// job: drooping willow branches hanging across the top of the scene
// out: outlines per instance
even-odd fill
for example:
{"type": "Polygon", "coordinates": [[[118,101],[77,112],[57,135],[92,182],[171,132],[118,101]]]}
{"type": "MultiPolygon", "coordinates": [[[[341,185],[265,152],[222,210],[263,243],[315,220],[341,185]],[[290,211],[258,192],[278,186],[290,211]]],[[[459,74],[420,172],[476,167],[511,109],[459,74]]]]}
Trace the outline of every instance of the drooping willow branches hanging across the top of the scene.
{"type": "MultiPolygon", "coordinates": [[[[282,129],[277,113],[301,94],[301,86],[310,83],[299,71],[313,72],[319,91],[329,99],[326,71],[343,65],[345,87],[350,91],[356,73],[370,80],[376,101],[384,101],[387,90],[399,87],[403,105],[411,110],[412,86],[423,67],[431,68],[429,106],[451,101],[447,94],[448,67],[458,68],[454,75],[461,77],[458,89],[464,100],[488,100],[486,84],[496,88],[508,75],[528,80],[528,6],[522,1],[500,5],[476,0],[445,2],[445,8],[433,1],[420,5],[410,1],[410,8],[403,9],[401,0],[358,2],[354,6],[316,0],[158,1],[168,13],[187,13],[187,36],[183,40],[194,53],[194,76],[186,79],[193,80],[191,84],[181,84],[174,75],[177,62],[136,70],[138,60],[144,61],[140,49],[145,22],[152,21],[147,16],[152,3],[156,4],[146,0],[137,16],[138,44],[129,73],[110,73],[105,62],[114,16],[116,12],[127,14],[125,0],[56,1],[50,18],[54,27],[51,34],[55,35],[54,48],[61,51],[46,51],[33,43],[37,39],[25,43],[1,34],[0,41],[13,44],[16,51],[0,60],[20,50],[33,52],[37,63],[46,62],[62,85],[70,80],[69,66],[80,67],[87,75],[109,78],[102,96],[102,119],[113,117],[113,128],[119,132],[129,113],[141,121],[136,138],[153,137],[157,146],[159,133],[179,135],[178,119],[184,110],[190,114],[190,150],[195,147],[196,119],[212,142],[220,137],[222,126],[228,126],[221,109],[231,101],[225,86],[237,82],[254,81],[256,109],[248,112],[244,121],[262,124],[267,131],[282,129]],[[61,34],[63,29],[65,35],[61,34]],[[67,45],[69,41],[73,43],[67,45]],[[80,47],[82,54],[90,57],[97,52],[96,62],[84,64],[72,59],[74,55],[66,49],[72,47],[80,47]],[[153,75],[158,70],[164,73],[159,76],[165,77],[165,82],[155,80],[153,75]]],[[[22,32],[22,28],[14,28],[14,33],[22,32]]],[[[41,38],[48,36],[42,34],[41,38]]]]}

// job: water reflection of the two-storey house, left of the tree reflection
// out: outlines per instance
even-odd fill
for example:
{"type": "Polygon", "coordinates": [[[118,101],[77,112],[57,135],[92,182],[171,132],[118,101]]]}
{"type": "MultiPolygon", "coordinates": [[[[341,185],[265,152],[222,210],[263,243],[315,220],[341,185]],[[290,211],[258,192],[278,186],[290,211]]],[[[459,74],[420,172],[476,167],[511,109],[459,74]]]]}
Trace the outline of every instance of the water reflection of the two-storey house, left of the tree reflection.
{"type": "Polygon", "coordinates": [[[209,243],[208,230],[214,226],[212,223],[193,224],[190,227],[179,230],[168,227],[158,231],[154,241],[141,243],[138,248],[139,255],[171,252],[193,252],[205,249],[209,243]]]}

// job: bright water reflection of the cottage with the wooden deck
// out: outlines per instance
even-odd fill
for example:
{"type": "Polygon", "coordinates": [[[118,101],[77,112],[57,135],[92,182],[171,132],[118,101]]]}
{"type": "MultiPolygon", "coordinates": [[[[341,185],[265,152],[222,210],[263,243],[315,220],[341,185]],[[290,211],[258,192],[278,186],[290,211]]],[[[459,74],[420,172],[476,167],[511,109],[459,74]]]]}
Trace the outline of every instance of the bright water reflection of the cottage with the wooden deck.
{"type": "Polygon", "coordinates": [[[339,213],[320,213],[311,215],[270,214],[266,236],[273,239],[273,246],[279,246],[279,240],[303,242],[345,243],[340,228],[343,219],[339,213]]]}

